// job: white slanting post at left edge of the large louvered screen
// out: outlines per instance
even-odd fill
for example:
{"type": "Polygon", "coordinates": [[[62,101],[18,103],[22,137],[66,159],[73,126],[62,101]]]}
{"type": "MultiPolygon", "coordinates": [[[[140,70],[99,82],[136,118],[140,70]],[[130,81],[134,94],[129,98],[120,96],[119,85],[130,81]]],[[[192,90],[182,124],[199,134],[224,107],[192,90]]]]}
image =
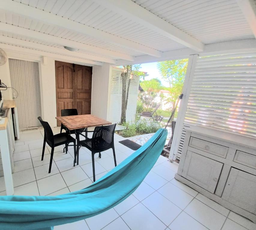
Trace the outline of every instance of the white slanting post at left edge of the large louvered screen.
{"type": "Polygon", "coordinates": [[[192,79],[194,76],[194,70],[197,62],[197,54],[190,55],[188,58],[188,67],[185,75],[185,81],[182,89],[183,98],[180,101],[179,112],[176,120],[176,125],[173,133],[173,140],[170,149],[169,161],[173,161],[179,147],[179,139],[182,132],[182,126],[185,119],[186,109],[188,105],[188,98],[190,94],[192,79]]]}

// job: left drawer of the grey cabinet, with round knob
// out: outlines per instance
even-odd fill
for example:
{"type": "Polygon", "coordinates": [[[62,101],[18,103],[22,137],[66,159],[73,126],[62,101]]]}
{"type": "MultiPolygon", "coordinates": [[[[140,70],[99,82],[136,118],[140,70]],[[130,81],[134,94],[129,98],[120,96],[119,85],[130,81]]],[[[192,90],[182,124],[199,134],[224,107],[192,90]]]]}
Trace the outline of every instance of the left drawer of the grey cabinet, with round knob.
{"type": "Polygon", "coordinates": [[[227,156],[228,147],[218,145],[206,140],[201,140],[196,137],[190,137],[188,145],[223,158],[226,158],[227,156]]]}

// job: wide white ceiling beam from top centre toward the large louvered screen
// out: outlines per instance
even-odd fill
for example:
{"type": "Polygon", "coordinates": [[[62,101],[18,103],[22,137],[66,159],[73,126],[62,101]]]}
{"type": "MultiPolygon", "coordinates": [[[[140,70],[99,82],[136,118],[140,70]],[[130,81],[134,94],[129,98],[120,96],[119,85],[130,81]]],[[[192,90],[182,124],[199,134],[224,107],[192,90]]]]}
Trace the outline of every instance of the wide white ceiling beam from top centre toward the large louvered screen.
{"type": "Polygon", "coordinates": [[[94,0],[98,4],[152,29],[188,48],[203,51],[204,44],[131,0],[94,0]]]}

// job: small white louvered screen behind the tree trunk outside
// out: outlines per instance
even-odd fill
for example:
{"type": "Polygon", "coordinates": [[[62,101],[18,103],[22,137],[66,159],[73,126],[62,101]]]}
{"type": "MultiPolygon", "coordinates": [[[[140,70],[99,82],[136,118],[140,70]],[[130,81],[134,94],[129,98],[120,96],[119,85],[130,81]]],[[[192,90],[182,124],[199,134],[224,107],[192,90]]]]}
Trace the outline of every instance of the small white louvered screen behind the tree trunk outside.
{"type": "MultiPolygon", "coordinates": [[[[120,68],[112,68],[111,74],[111,94],[122,94],[122,78],[121,73],[123,69],[120,68]]],[[[130,78],[130,74],[128,74],[128,78],[126,81],[126,86],[128,85],[128,81],[130,78]]],[[[137,94],[139,88],[139,81],[140,78],[138,76],[133,76],[131,79],[130,87],[129,87],[129,94],[137,94]]]]}

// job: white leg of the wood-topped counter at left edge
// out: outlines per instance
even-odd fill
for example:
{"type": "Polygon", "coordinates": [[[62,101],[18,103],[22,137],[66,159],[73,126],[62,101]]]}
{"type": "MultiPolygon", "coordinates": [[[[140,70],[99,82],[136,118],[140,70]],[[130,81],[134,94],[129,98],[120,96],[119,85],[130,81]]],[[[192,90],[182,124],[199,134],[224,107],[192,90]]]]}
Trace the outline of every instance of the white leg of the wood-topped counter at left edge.
{"type": "Polygon", "coordinates": [[[0,140],[1,140],[0,148],[1,148],[1,155],[2,155],[6,194],[8,196],[11,196],[14,194],[14,188],[13,188],[13,179],[12,179],[12,171],[11,171],[10,150],[8,146],[8,137],[7,137],[6,129],[0,130],[0,140]]]}

